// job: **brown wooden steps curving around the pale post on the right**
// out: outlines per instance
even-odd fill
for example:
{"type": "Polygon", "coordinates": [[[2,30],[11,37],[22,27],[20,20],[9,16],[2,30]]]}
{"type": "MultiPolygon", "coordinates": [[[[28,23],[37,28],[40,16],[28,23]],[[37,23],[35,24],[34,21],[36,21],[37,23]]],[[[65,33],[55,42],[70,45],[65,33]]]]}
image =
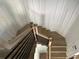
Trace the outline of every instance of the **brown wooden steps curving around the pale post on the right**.
{"type": "Polygon", "coordinates": [[[52,37],[51,59],[66,59],[66,42],[63,36],[41,26],[38,26],[38,32],[47,37],[52,37]]]}

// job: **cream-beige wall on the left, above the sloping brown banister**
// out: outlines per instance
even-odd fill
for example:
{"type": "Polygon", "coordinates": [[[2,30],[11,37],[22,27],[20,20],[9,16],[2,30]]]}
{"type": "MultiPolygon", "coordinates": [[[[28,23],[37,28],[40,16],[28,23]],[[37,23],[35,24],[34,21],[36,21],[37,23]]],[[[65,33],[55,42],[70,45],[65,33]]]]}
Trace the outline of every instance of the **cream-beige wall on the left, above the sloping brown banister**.
{"type": "MultiPolygon", "coordinates": [[[[27,12],[19,0],[0,0],[0,45],[9,43],[17,31],[29,23],[27,12]],[[22,10],[23,9],[23,10],[22,10]]],[[[6,44],[5,44],[6,45],[6,44]]]]}

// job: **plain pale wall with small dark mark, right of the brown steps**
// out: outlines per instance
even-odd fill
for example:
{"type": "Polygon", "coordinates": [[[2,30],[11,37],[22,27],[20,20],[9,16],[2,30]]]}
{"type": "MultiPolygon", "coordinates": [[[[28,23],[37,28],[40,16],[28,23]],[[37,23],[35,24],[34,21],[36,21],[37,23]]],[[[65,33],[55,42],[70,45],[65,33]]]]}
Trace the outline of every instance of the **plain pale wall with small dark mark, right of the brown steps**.
{"type": "Polygon", "coordinates": [[[71,57],[79,51],[79,17],[69,29],[66,35],[67,56],[71,57]],[[77,49],[75,49],[75,46],[77,49]]]}

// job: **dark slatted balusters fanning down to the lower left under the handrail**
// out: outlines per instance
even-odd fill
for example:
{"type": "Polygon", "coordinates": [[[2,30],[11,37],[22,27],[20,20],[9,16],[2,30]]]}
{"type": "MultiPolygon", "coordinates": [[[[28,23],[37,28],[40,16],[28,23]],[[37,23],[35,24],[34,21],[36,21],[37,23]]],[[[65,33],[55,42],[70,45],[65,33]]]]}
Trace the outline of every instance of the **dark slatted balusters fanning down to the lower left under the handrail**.
{"type": "Polygon", "coordinates": [[[34,42],[34,34],[31,31],[11,50],[5,59],[28,59],[34,42]]]}

